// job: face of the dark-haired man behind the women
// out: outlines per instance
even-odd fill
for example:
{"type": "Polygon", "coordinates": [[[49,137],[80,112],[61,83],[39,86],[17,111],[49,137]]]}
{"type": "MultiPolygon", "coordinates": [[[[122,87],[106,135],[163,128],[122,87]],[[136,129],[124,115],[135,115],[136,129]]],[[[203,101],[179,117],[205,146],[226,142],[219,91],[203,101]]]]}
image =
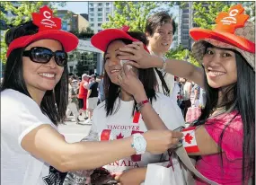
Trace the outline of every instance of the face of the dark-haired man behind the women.
{"type": "Polygon", "coordinates": [[[172,31],[171,22],[157,27],[152,36],[147,34],[148,47],[156,54],[166,53],[172,44],[172,31]]]}

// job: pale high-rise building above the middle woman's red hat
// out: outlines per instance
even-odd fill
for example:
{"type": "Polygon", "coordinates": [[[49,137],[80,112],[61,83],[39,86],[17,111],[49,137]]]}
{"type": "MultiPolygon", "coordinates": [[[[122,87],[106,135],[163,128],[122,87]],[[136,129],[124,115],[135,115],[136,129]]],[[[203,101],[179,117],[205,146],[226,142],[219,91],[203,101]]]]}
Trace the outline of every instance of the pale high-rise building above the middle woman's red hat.
{"type": "Polygon", "coordinates": [[[88,6],[90,28],[94,33],[102,31],[102,22],[109,22],[108,15],[114,14],[113,2],[89,2],[88,6]]]}

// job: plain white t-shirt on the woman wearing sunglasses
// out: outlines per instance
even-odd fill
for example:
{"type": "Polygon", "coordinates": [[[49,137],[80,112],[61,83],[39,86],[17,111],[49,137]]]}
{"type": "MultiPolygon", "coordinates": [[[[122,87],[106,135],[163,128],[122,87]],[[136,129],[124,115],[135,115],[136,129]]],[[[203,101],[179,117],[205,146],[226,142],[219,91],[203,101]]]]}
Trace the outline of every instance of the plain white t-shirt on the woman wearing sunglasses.
{"type": "Polygon", "coordinates": [[[42,124],[57,129],[27,95],[11,89],[1,93],[2,185],[60,185],[59,181],[65,178],[66,173],[58,172],[22,148],[22,138],[42,124]]]}

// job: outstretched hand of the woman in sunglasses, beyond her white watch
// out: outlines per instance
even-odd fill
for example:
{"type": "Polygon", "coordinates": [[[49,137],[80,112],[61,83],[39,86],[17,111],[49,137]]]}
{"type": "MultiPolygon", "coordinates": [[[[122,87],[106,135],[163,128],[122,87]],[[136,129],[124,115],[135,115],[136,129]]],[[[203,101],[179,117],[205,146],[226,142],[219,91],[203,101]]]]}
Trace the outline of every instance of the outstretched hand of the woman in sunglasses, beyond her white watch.
{"type": "Polygon", "coordinates": [[[151,154],[163,154],[169,148],[179,144],[183,134],[172,130],[148,130],[143,134],[146,139],[146,151],[151,154]]]}

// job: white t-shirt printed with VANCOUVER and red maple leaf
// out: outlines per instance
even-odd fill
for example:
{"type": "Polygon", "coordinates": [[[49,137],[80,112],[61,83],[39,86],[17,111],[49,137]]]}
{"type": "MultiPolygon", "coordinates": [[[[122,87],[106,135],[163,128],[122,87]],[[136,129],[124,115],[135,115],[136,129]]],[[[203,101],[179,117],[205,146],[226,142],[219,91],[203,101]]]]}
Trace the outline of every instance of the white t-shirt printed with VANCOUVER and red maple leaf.
{"type": "MultiPolygon", "coordinates": [[[[181,114],[181,109],[176,102],[173,102],[170,97],[162,93],[156,93],[157,99],[153,101],[153,108],[159,114],[160,118],[169,129],[184,127],[184,119],[181,114]]],[[[119,100],[116,101],[115,107],[118,106],[119,100]]],[[[138,123],[133,123],[134,117],[132,110],[134,101],[121,101],[119,110],[111,116],[106,117],[104,110],[105,101],[103,101],[93,111],[92,132],[99,133],[100,140],[113,140],[123,137],[129,137],[134,133],[144,133],[147,131],[143,119],[140,118],[138,123]]],[[[116,109],[113,110],[115,112],[116,109]]],[[[122,148],[120,148],[122,150],[122,148]]],[[[131,157],[121,159],[119,161],[105,165],[104,168],[110,172],[123,172],[124,170],[146,166],[147,163],[159,163],[161,154],[133,155],[131,157]]]]}

